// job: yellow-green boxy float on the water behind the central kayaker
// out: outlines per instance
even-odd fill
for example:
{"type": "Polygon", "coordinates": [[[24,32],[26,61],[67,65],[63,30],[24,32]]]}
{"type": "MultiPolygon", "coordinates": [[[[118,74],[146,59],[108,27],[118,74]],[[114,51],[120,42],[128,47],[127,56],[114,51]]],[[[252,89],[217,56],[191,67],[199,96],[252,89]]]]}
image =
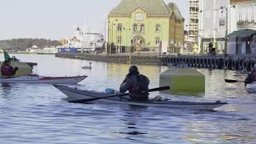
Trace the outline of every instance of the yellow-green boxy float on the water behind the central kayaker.
{"type": "Polygon", "coordinates": [[[160,74],[160,86],[170,86],[166,94],[192,94],[205,92],[205,75],[195,69],[171,68],[160,74]]]}

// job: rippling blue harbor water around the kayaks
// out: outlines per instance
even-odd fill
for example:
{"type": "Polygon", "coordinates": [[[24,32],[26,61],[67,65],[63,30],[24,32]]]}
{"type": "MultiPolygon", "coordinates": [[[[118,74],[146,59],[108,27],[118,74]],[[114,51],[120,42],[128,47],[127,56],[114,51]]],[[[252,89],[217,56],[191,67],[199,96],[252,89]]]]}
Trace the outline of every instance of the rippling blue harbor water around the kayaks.
{"type": "MultiPolygon", "coordinates": [[[[129,65],[55,58],[54,55],[10,54],[22,62],[38,62],[35,72],[46,76],[89,77],[79,89],[118,88],[129,65]]],[[[0,59],[3,59],[1,56],[0,59]]],[[[158,86],[162,66],[138,66],[158,86]]],[[[202,97],[169,96],[174,100],[229,102],[214,111],[107,104],[74,104],[47,84],[0,86],[1,143],[255,143],[256,94],[243,83],[229,84],[224,78],[243,80],[245,74],[225,70],[199,70],[206,75],[202,97]]],[[[155,93],[158,94],[158,93],[155,93]]]]}

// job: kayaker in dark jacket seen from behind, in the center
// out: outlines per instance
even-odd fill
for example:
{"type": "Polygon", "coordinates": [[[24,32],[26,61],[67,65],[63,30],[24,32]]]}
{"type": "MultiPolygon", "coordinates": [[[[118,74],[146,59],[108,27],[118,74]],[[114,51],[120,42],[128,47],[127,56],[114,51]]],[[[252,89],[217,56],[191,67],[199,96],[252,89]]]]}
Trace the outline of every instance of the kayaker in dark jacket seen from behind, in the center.
{"type": "Polygon", "coordinates": [[[149,98],[150,80],[145,75],[139,74],[137,66],[130,66],[129,73],[120,86],[120,92],[129,90],[130,98],[136,101],[146,101],[149,98]]]}

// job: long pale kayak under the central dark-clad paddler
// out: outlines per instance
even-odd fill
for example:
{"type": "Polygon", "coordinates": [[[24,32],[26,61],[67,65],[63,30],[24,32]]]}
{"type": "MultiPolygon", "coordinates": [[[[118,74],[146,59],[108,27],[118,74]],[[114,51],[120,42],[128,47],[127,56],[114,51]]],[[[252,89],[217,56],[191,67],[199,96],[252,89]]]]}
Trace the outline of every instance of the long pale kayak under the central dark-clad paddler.
{"type": "MultiPolygon", "coordinates": [[[[104,96],[110,96],[114,94],[107,94],[103,92],[96,92],[92,90],[78,90],[77,88],[71,88],[69,86],[54,85],[62,93],[66,94],[67,101],[76,101],[86,98],[98,98],[104,96]]],[[[120,94],[120,93],[115,93],[120,94]]],[[[120,103],[120,104],[129,104],[137,106],[158,106],[158,107],[169,107],[169,108],[178,108],[178,109],[190,109],[190,110],[213,110],[219,106],[226,105],[227,102],[182,102],[182,101],[143,101],[138,102],[126,97],[113,97],[113,98],[102,98],[96,101],[91,102],[105,102],[105,103],[120,103]]],[[[90,103],[91,103],[90,102],[90,103]]]]}

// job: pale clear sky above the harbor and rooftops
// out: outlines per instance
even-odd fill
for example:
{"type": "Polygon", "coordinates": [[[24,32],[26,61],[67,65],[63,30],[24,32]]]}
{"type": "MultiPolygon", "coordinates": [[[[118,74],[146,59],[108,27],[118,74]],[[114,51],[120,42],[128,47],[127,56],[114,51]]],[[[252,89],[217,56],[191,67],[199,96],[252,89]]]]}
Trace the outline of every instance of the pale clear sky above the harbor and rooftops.
{"type": "MultiPolygon", "coordinates": [[[[189,0],[164,0],[178,5],[185,25],[189,0]]],[[[70,38],[72,27],[101,32],[107,14],[121,0],[0,0],[0,40],[11,38],[70,38]]]]}

